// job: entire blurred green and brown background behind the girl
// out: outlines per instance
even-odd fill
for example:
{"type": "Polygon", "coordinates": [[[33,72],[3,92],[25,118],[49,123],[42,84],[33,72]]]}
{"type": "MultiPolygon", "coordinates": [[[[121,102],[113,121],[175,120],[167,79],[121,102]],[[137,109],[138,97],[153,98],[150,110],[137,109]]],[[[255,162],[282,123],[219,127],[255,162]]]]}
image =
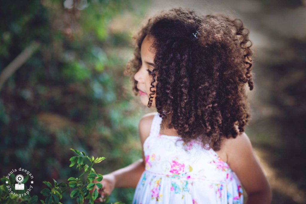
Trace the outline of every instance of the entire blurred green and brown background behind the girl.
{"type": "MultiPolygon", "coordinates": [[[[238,17],[250,30],[254,84],[246,134],[273,189],[272,203],[306,203],[305,0],[31,0],[0,6],[0,173],[25,168],[31,195],[66,182],[79,149],[106,174],[141,158],[141,105],[123,75],[131,37],[161,9],[238,17]]],[[[131,203],[134,188],[111,202],[131,203]]],[[[246,195],[245,195],[246,198],[246,195]]],[[[246,200],[246,199],[245,199],[246,200]]],[[[64,194],[62,203],[75,203],[64,194]]]]}

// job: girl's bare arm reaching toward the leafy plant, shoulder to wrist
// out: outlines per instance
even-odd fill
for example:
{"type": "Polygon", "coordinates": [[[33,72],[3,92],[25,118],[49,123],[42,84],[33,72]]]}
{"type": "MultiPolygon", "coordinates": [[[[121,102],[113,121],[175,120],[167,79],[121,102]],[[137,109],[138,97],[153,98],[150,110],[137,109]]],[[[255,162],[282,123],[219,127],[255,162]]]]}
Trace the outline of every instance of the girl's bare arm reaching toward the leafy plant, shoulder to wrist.
{"type": "Polygon", "coordinates": [[[139,121],[138,131],[142,147],[142,159],[111,172],[115,179],[115,187],[132,187],[136,188],[137,183],[140,179],[141,174],[145,170],[145,157],[144,157],[144,141],[150,134],[151,124],[155,113],[145,114],[139,121]]]}

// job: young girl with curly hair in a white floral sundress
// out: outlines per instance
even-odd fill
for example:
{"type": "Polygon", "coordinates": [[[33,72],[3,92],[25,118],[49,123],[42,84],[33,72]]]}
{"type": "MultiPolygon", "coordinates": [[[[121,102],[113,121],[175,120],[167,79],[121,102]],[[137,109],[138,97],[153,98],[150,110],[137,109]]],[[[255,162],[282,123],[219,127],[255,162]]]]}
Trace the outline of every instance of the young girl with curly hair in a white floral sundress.
{"type": "Polygon", "coordinates": [[[248,33],[240,19],[181,7],[148,20],[133,37],[125,74],[141,103],[157,112],[139,123],[143,158],[104,175],[102,197],[136,187],[132,204],[242,204],[244,189],[248,204],[271,203],[244,133],[245,84],[253,89],[248,33]]]}

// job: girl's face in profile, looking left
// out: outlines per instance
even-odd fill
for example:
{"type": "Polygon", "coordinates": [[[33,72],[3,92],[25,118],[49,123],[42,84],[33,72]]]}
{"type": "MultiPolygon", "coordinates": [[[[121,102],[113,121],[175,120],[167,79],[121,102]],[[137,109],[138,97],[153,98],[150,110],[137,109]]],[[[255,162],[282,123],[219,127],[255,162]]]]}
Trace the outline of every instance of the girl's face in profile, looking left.
{"type": "MultiPolygon", "coordinates": [[[[140,69],[134,75],[134,79],[138,82],[137,88],[140,90],[138,93],[140,95],[140,101],[142,104],[147,105],[149,101],[150,94],[150,83],[152,80],[152,75],[150,74],[154,69],[154,56],[155,54],[150,51],[150,46],[153,43],[153,39],[146,36],[141,44],[141,62],[142,65],[140,69]]],[[[152,107],[155,107],[155,96],[152,99],[152,107]]]]}

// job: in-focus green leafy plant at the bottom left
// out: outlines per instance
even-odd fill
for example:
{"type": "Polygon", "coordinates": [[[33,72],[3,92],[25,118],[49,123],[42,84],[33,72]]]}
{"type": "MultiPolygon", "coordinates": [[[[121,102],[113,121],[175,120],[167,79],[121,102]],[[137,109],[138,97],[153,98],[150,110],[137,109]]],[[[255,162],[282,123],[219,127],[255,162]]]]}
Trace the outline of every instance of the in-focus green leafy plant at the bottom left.
{"type": "MultiPolygon", "coordinates": [[[[68,179],[68,186],[66,183],[58,183],[55,179],[53,179],[54,185],[49,181],[43,181],[43,183],[47,186],[47,188],[44,188],[43,190],[40,191],[40,193],[43,196],[46,196],[45,200],[40,200],[42,204],[62,204],[60,200],[62,199],[62,194],[69,188],[73,189],[70,193],[71,198],[76,198],[76,202],[78,204],[83,204],[85,199],[88,199],[88,204],[93,204],[95,199],[97,199],[100,195],[97,191],[97,188],[102,188],[102,184],[99,183],[102,181],[103,176],[101,174],[96,173],[95,169],[93,168],[94,164],[100,163],[105,159],[105,157],[97,157],[94,158],[93,156],[88,157],[85,152],[80,152],[77,149],[71,149],[73,152],[75,152],[78,156],[73,156],[69,159],[71,164],[69,167],[73,167],[76,164],[76,168],[78,168],[79,171],[83,171],[83,173],[78,176],[77,178],[75,177],[70,177],[68,179]],[[88,160],[90,164],[85,164],[84,160],[88,160]],[[82,176],[84,174],[87,174],[86,180],[83,183],[82,181],[82,176]],[[98,183],[95,183],[95,181],[98,181],[98,183]],[[92,190],[96,185],[95,191],[93,193],[90,193],[90,190],[92,190]],[[62,190],[62,188],[66,187],[65,189],[62,190]]],[[[3,176],[1,179],[3,185],[0,186],[0,195],[1,199],[0,201],[5,201],[1,203],[16,203],[16,199],[18,199],[17,202],[21,203],[36,203],[38,200],[37,195],[34,195],[33,197],[30,197],[30,195],[23,196],[22,198],[16,197],[15,195],[11,194],[9,192],[9,188],[7,187],[8,185],[13,188],[13,183],[15,180],[15,175],[11,174],[10,178],[6,178],[3,176]],[[4,184],[8,182],[8,184],[4,184]],[[6,186],[5,186],[6,185],[6,186]]],[[[25,183],[28,180],[28,175],[25,177],[23,183],[25,183]]],[[[27,190],[27,187],[25,187],[25,190],[27,190]]],[[[21,192],[23,193],[23,191],[21,192]]],[[[109,196],[106,194],[105,196],[105,202],[108,203],[110,200],[109,196]]],[[[123,202],[115,202],[114,204],[122,204],[123,202]]]]}

